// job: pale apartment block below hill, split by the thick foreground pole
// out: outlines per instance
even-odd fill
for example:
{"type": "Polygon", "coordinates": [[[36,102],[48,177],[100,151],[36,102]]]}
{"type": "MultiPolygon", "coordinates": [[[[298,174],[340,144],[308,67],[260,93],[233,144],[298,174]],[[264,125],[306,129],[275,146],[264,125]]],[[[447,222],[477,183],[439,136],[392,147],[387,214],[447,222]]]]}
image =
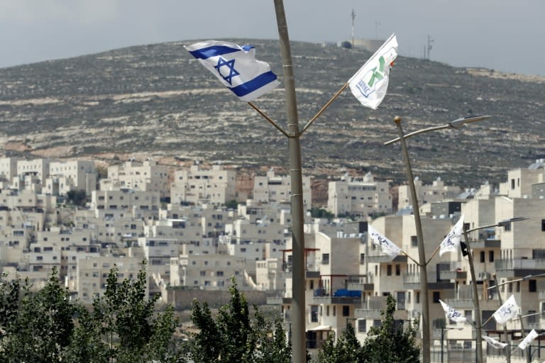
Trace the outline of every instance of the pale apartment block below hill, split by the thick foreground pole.
{"type": "MultiPolygon", "coordinates": [[[[275,175],[270,169],[265,176],[256,175],[253,179],[253,200],[255,203],[291,203],[291,177],[275,175]]],[[[312,206],[311,177],[303,176],[303,203],[305,208],[312,206]]]]}

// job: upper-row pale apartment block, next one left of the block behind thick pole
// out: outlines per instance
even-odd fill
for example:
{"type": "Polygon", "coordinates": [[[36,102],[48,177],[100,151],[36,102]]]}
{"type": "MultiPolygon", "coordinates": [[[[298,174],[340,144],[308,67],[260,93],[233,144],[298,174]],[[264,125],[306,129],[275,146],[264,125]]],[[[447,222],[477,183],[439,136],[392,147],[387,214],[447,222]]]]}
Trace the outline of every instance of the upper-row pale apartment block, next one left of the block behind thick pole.
{"type": "Polygon", "coordinates": [[[221,206],[236,199],[236,171],[233,169],[225,169],[218,164],[205,169],[194,164],[189,169],[174,172],[170,186],[171,203],[221,206]]]}

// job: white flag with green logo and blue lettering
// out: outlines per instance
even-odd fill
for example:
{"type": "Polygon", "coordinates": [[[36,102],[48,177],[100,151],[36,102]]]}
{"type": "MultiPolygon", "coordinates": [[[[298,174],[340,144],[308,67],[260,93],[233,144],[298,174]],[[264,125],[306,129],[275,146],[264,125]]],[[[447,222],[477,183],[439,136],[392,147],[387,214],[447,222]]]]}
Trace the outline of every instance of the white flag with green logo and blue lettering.
{"type": "Polygon", "coordinates": [[[348,80],[352,94],[360,103],[376,110],[388,88],[390,65],[397,57],[397,39],[392,34],[384,44],[378,48],[373,57],[348,80]]]}

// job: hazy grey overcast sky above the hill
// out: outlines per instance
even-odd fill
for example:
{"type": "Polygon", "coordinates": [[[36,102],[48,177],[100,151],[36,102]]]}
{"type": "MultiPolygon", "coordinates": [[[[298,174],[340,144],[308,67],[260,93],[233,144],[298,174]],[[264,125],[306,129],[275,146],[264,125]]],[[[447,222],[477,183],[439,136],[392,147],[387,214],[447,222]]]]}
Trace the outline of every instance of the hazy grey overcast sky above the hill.
{"type": "MultiPolygon", "coordinates": [[[[284,0],[290,40],[397,34],[400,55],[545,76],[544,0],[284,0]]],[[[0,67],[130,45],[277,39],[273,0],[0,0],[0,67]]],[[[180,52],[183,52],[180,49],[180,52]]]]}

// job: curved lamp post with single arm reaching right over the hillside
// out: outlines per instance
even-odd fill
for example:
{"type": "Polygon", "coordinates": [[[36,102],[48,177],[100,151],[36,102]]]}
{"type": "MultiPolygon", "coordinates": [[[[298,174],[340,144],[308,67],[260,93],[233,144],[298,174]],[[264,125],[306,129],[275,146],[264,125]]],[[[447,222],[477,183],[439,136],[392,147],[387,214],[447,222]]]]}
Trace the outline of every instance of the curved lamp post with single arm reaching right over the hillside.
{"type": "Polygon", "coordinates": [[[424,251],[424,234],[422,233],[422,221],[420,220],[420,211],[418,208],[418,199],[417,199],[417,191],[414,186],[414,177],[412,177],[412,169],[411,169],[411,162],[409,160],[409,152],[407,152],[407,144],[405,143],[405,139],[413,136],[418,135],[420,133],[426,133],[429,131],[434,130],[441,130],[444,128],[458,128],[464,123],[470,123],[475,121],[484,120],[486,118],[490,118],[492,116],[473,116],[473,117],[467,117],[467,118],[458,118],[454,121],[451,121],[447,123],[446,125],[436,126],[432,128],[426,128],[423,130],[414,131],[413,133],[409,133],[407,135],[403,134],[403,130],[401,127],[401,118],[400,116],[396,116],[394,118],[394,122],[397,125],[397,133],[400,135],[399,138],[390,140],[385,145],[390,145],[391,143],[395,143],[396,141],[401,142],[401,148],[403,153],[403,160],[405,164],[405,169],[407,171],[407,179],[409,181],[409,188],[411,191],[411,197],[412,197],[412,211],[414,215],[414,224],[416,226],[417,230],[417,242],[418,242],[418,257],[419,257],[419,267],[420,267],[420,289],[422,292],[422,361],[423,363],[430,363],[431,362],[431,356],[430,356],[430,342],[431,342],[431,335],[429,333],[429,296],[428,296],[428,273],[426,270],[426,253],[424,251]]]}

